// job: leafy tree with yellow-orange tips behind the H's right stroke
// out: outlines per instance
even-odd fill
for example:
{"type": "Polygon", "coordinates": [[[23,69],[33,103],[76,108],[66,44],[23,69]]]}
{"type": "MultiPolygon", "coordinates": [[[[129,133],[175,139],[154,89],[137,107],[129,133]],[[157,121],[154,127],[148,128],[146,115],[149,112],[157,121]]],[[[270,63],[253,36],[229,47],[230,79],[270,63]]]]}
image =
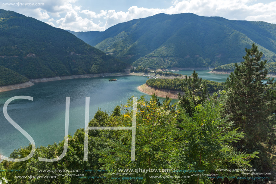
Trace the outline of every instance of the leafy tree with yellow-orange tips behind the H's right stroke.
{"type": "MultiPolygon", "coordinates": [[[[172,161],[172,155],[175,152],[175,114],[167,110],[168,106],[163,106],[157,101],[156,95],[152,95],[149,101],[145,96],[141,96],[137,102],[137,119],[136,119],[136,144],[135,144],[135,161],[130,161],[131,150],[131,131],[117,131],[117,138],[110,140],[110,147],[106,150],[100,150],[102,159],[100,163],[104,164],[103,168],[113,169],[160,169],[169,168],[172,161]]],[[[168,104],[165,100],[164,104],[168,104]]],[[[128,100],[124,108],[126,113],[126,122],[121,121],[120,126],[131,126],[132,123],[132,98],[128,100]],[[123,124],[122,124],[123,123],[123,124]]],[[[157,172],[158,173],[158,172],[157,172]]],[[[132,177],[143,177],[144,180],[129,180],[130,183],[156,183],[162,180],[150,179],[150,176],[157,173],[138,172],[132,177]]],[[[158,173],[166,175],[166,173],[158,173]]],[[[124,175],[118,175],[124,176],[124,175]]],[[[117,177],[117,176],[116,176],[117,177]]],[[[108,181],[114,183],[114,180],[108,181]]],[[[116,180],[116,182],[122,182],[116,180]]]]}

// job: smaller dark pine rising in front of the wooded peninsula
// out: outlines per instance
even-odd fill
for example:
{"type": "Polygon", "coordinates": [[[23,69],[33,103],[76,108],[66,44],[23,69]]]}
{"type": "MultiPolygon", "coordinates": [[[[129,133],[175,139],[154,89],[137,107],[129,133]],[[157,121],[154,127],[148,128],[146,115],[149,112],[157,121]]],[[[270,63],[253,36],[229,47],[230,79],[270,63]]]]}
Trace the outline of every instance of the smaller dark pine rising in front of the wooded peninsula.
{"type": "Polygon", "coordinates": [[[184,95],[178,94],[179,104],[190,115],[193,114],[194,108],[201,104],[207,98],[207,87],[203,86],[202,78],[198,78],[196,71],[191,76],[186,76],[184,83],[181,83],[181,90],[184,95]]]}

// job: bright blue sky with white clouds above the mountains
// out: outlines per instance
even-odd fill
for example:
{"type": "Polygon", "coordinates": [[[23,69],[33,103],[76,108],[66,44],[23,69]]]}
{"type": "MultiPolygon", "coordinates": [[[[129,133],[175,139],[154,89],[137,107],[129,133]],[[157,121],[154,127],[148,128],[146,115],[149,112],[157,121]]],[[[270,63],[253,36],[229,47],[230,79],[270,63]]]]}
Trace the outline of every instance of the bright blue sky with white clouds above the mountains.
{"type": "Polygon", "coordinates": [[[276,0],[2,0],[0,9],[71,31],[104,31],[159,13],[276,23],[276,0]]]}

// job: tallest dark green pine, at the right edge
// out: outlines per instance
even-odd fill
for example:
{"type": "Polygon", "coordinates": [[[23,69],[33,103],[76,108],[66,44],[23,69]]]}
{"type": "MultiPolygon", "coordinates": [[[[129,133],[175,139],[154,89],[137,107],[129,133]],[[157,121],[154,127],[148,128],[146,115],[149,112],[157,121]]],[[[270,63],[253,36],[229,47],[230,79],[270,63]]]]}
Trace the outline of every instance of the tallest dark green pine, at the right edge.
{"type": "MultiPolygon", "coordinates": [[[[226,104],[226,112],[234,121],[235,127],[240,128],[247,134],[242,142],[237,144],[240,151],[259,151],[262,163],[255,161],[255,168],[269,166],[266,144],[274,144],[273,117],[275,116],[276,91],[274,78],[267,77],[268,70],[265,68],[266,60],[261,61],[263,56],[253,43],[251,49],[245,49],[246,55],[240,65],[235,65],[234,73],[226,81],[231,89],[226,104]],[[267,83],[262,82],[267,80],[267,83]],[[269,135],[271,134],[271,135],[269,135]]],[[[271,145],[271,146],[272,146],[271,145]]],[[[267,169],[268,169],[267,168],[267,169]]]]}

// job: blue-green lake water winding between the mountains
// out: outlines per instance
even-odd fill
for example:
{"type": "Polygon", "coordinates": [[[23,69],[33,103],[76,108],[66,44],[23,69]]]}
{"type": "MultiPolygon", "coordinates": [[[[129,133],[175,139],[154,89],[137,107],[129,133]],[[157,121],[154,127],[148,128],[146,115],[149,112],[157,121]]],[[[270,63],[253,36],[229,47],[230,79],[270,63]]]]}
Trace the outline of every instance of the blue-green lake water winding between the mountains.
{"type": "MultiPolygon", "coordinates": [[[[203,79],[224,82],[228,75],[211,74],[209,70],[198,70],[203,79]]],[[[178,73],[178,72],[177,72],[178,73]]],[[[193,71],[182,71],[191,75],[193,71]]],[[[4,117],[3,105],[14,96],[31,96],[33,101],[19,99],[8,105],[9,116],[33,137],[36,147],[47,146],[64,139],[65,100],[70,96],[69,134],[84,128],[85,97],[90,97],[89,119],[98,109],[111,112],[116,105],[125,104],[127,99],[140,96],[137,87],[144,84],[147,77],[116,76],[59,80],[0,93],[0,154],[9,156],[14,149],[29,144],[28,139],[15,129],[4,117]],[[118,79],[109,82],[108,79],[118,79]]],[[[146,95],[150,98],[150,95],[146,95]]],[[[160,98],[162,101],[164,98],[160,98]]]]}

